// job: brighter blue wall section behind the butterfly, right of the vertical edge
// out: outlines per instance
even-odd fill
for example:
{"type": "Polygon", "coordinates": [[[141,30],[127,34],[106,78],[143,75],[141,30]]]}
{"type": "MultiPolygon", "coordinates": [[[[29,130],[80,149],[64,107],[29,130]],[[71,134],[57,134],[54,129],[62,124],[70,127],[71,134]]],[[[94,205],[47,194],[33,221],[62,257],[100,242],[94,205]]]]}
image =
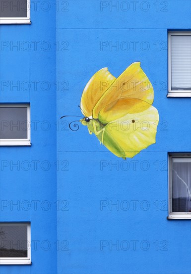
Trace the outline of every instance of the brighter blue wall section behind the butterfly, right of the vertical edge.
{"type": "MultiPolygon", "coordinates": [[[[117,158],[80,125],[57,135],[58,273],[189,274],[191,223],[168,221],[168,152],[191,151],[191,99],[167,98],[168,29],[190,29],[190,1],[71,0],[57,12],[57,114],[81,115],[99,69],[141,62],[160,115],[156,144],[117,158]],[[115,6],[114,6],[115,5],[115,6]],[[63,85],[62,85],[63,82],[63,85]]],[[[76,119],[77,120],[77,119],[76,119]]]]}

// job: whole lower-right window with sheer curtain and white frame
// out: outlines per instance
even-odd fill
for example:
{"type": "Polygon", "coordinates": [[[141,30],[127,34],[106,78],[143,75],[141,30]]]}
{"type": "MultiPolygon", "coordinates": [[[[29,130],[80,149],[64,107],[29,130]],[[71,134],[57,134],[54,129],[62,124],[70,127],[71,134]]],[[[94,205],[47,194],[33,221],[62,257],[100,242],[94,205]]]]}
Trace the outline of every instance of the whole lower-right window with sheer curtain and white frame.
{"type": "Polygon", "coordinates": [[[168,219],[191,219],[191,153],[169,154],[168,219]]]}

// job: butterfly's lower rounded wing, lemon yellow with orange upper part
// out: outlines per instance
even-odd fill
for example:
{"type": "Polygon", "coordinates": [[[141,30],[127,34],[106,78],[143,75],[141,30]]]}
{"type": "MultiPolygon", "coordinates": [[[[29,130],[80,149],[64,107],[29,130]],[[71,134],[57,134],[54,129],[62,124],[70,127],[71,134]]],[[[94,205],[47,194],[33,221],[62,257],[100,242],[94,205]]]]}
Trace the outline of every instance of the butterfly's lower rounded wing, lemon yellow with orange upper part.
{"type": "Polygon", "coordinates": [[[118,157],[132,158],[155,143],[157,109],[140,99],[122,98],[105,106],[98,115],[105,125],[104,145],[118,157]]]}

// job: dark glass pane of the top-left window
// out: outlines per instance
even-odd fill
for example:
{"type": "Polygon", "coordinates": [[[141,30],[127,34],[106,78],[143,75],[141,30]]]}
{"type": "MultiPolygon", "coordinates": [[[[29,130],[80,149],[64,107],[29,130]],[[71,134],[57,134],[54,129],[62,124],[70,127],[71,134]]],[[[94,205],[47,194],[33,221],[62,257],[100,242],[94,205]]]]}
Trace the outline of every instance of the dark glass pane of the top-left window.
{"type": "Polygon", "coordinates": [[[27,17],[29,1],[0,0],[0,17],[27,17]]]}

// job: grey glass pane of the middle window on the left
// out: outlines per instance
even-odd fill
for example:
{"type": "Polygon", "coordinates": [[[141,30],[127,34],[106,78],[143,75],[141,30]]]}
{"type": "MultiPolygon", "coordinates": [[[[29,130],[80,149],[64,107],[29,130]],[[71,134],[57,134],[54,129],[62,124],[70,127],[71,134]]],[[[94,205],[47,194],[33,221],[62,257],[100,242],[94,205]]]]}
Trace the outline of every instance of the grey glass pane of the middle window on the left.
{"type": "Polygon", "coordinates": [[[27,107],[0,107],[0,139],[27,139],[27,107]]]}

